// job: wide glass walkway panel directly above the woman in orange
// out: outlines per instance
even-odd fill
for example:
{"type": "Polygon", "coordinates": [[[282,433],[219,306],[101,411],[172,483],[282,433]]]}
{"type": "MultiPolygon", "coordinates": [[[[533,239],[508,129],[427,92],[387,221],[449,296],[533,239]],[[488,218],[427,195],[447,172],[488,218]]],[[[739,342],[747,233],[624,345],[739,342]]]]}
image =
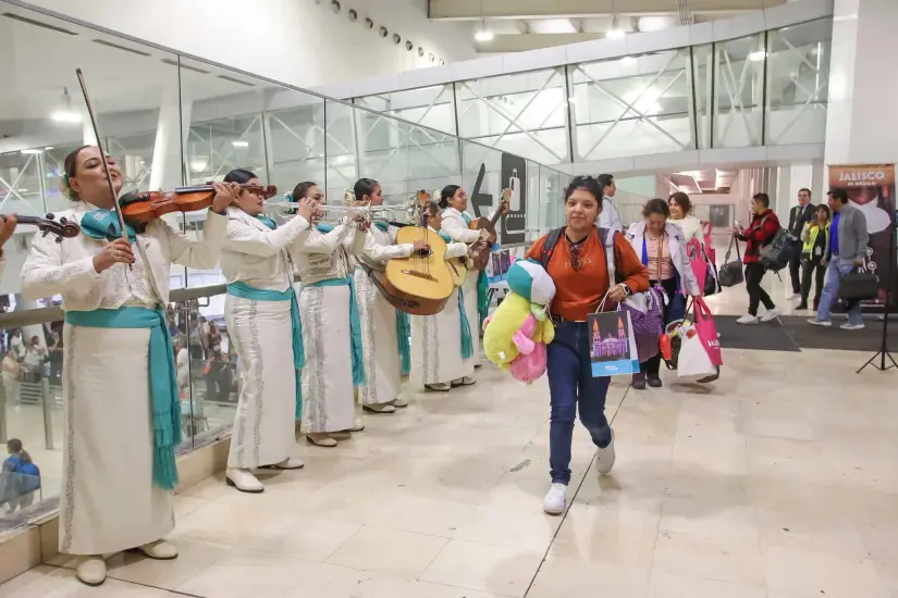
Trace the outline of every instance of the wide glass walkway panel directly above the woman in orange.
{"type": "Polygon", "coordinates": [[[689,48],[568,66],[577,160],[693,149],[689,48]]]}

